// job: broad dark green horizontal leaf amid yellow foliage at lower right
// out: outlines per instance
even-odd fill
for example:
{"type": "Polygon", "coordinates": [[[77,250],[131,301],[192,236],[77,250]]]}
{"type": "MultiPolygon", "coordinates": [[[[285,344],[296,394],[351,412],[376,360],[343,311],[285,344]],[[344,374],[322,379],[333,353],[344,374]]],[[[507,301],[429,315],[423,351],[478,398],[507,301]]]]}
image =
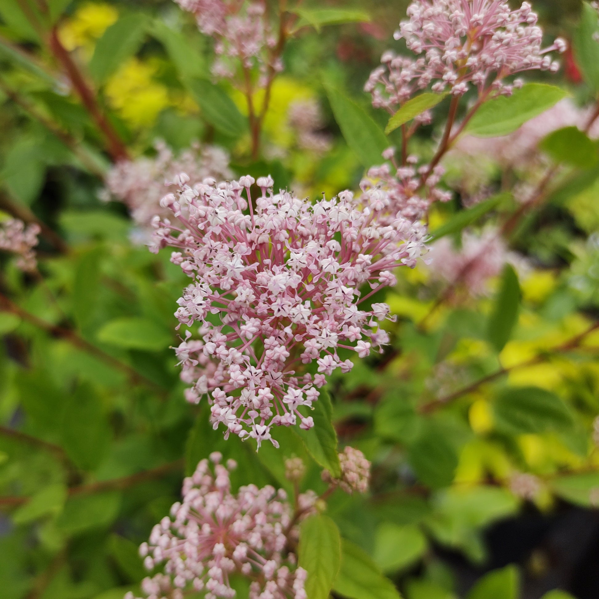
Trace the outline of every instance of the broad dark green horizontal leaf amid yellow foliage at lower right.
{"type": "Polygon", "coordinates": [[[570,410],[559,397],[539,387],[510,387],[495,400],[498,428],[513,434],[568,430],[573,425],[570,410]]]}

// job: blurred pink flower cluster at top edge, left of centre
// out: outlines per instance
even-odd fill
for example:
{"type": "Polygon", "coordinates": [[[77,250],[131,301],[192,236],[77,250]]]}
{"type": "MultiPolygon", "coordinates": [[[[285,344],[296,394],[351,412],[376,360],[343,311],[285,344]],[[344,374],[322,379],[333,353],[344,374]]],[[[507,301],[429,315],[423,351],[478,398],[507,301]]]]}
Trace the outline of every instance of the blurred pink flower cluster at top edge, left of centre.
{"type": "Polygon", "coordinates": [[[214,50],[219,56],[212,71],[217,77],[231,78],[237,61],[243,69],[258,65],[265,73],[267,67],[282,71],[279,58],[272,50],[277,37],[271,31],[262,2],[226,0],[175,0],[183,10],[193,13],[199,30],[216,38],[214,50]]]}

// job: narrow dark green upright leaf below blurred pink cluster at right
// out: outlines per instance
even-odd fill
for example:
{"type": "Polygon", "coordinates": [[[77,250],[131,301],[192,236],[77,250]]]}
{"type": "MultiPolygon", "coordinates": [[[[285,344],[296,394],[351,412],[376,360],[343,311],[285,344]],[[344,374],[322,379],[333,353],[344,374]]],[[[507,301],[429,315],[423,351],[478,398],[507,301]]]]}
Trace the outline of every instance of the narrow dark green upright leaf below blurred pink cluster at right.
{"type": "Polygon", "coordinates": [[[487,323],[487,338],[496,352],[501,352],[510,340],[518,322],[520,308],[518,275],[511,264],[506,264],[501,276],[501,286],[487,323]]]}

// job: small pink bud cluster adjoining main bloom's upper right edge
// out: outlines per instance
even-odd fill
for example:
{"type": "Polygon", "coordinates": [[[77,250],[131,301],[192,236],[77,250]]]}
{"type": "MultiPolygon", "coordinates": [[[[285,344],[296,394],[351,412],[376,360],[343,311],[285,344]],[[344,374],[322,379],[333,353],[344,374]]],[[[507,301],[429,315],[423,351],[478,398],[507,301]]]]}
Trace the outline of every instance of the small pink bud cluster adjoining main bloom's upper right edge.
{"type": "Polygon", "coordinates": [[[447,202],[452,198],[451,192],[436,187],[445,172],[441,165],[434,167],[423,187],[422,177],[428,173],[429,166],[417,168],[416,156],[408,156],[403,167],[395,162],[394,148],[385,150],[383,158],[391,161],[395,172],[389,164],[372,167],[360,182],[362,195],[359,199],[368,210],[377,214],[379,222],[397,216],[416,222],[422,219],[432,202],[447,202]]]}

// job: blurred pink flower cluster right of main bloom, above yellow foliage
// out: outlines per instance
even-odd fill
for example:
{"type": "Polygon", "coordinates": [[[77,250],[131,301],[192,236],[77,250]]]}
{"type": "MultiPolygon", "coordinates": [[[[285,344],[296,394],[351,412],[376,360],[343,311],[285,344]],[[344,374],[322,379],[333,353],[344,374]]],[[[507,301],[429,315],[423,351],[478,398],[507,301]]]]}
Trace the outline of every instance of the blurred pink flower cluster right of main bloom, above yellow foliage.
{"type": "Polygon", "coordinates": [[[450,285],[461,284],[473,296],[485,294],[488,280],[501,273],[508,258],[506,245],[491,229],[480,236],[462,234],[460,250],[449,237],[443,237],[432,244],[429,255],[434,276],[450,285]]]}

